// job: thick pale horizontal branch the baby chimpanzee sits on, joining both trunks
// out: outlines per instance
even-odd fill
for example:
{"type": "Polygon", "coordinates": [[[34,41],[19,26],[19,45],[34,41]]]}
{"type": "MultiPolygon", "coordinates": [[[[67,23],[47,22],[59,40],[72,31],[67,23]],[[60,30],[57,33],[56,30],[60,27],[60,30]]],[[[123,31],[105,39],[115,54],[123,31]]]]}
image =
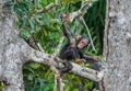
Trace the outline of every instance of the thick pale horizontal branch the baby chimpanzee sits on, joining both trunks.
{"type": "MultiPolygon", "coordinates": [[[[62,62],[62,60],[58,57],[51,57],[48,54],[35,50],[33,48],[28,49],[27,57],[28,57],[28,61],[32,60],[32,61],[40,62],[40,64],[48,65],[48,66],[50,66],[51,64],[56,65],[56,62],[57,64],[62,62]],[[50,58],[51,59],[53,58],[53,61],[51,61],[50,58]]],[[[73,69],[71,70],[72,73],[94,80],[94,81],[100,81],[102,77],[104,76],[104,73],[100,71],[96,71],[96,70],[93,70],[86,67],[82,67],[73,62],[72,62],[72,66],[73,66],[73,69]]]]}

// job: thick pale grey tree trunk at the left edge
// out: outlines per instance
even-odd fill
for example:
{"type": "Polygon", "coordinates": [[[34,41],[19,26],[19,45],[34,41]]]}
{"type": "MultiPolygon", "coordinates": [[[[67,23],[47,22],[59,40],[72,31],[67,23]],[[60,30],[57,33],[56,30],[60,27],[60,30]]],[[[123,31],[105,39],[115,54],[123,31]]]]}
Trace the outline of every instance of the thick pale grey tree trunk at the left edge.
{"type": "Polygon", "coordinates": [[[20,39],[15,22],[8,16],[0,29],[0,79],[7,78],[9,87],[3,91],[24,91],[22,66],[28,46],[20,39]]]}

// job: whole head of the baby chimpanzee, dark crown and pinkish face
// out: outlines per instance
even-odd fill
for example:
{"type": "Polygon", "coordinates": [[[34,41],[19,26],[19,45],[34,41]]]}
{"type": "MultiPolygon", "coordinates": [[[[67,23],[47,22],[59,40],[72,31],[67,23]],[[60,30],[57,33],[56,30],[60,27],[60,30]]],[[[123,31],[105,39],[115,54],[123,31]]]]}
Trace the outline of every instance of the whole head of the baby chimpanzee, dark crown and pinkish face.
{"type": "Polygon", "coordinates": [[[85,47],[87,47],[87,45],[90,44],[90,38],[87,36],[81,36],[79,39],[78,39],[78,48],[80,49],[83,49],[85,47]]]}

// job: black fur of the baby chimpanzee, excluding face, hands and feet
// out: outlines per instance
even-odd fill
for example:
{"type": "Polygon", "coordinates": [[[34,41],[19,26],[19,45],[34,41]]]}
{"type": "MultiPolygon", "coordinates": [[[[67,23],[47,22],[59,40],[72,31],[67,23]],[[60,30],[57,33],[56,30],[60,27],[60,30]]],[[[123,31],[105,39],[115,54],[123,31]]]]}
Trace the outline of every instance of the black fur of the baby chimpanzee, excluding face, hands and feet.
{"type": "MultiPolygon", "coordinates": [[[[64,67],[59,69],[61,72],[68,72],[69,70],[72,69],[72,65],[69,60],[71,59],[76,59],[76,58],[83,58],[85,59],[85,64],[91,64],[92,65],[92,69],[94,70],[100,70],[100,65],[99,61],[96,61],[92,58],[88,58],[85,56],[85,47],[83,47],[82,49],[79,49],[76,47],[76,45],[83,39],[86,38],[87,43],[90,43],[90,38],[86,36],[82,36],[81,38],[79,38],[78,41],[75,39],[75,37],[73,36],[73,34],[70,32],[69,27],[67,26],[66,23],[62,24],[62,29],[63,29],[63,35],[68,38],[67,44],[63,46],[63,48],[60,52],[60,58],[61,59],[66,59],[67,61],[63,62],[64,67]]],[[[83,81],[82,81],[83,82],[83,81]]],[[[98,82],[94,82],[94,88],[96,88],[97,90],[99,90],[99,83],[98,82]]]]}

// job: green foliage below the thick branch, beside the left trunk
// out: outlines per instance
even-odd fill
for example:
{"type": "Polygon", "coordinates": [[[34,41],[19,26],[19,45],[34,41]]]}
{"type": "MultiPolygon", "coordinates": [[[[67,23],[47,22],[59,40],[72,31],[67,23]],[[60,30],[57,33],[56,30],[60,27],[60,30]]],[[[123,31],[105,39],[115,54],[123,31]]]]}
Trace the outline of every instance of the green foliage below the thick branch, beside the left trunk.
{"type": "Polygon", "coordinates": [[[26,64],[23,68],[26,91],[52,91],[53,72],[40,64],[26,64]]]}

